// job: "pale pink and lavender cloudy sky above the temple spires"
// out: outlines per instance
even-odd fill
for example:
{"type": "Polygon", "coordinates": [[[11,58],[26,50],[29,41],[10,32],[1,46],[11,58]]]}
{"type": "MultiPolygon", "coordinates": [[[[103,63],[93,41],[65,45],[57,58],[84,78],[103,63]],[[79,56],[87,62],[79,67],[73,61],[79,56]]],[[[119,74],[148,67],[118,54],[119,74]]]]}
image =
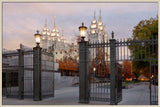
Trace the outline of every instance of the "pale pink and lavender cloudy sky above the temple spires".
{"type": "Polygon", "coordinates": [[[36,30],[42,32],[47,20],[50,31],[56,16],[57,27],[71,43],[79,35],[78,27],[84,22],[89,28],[101,9],[102,21],[109,36],[128,38],[141,20],[158,15],[158,3],[3,3],[3,48],[15,50],[20,43],[35,46],[36,30]]]}

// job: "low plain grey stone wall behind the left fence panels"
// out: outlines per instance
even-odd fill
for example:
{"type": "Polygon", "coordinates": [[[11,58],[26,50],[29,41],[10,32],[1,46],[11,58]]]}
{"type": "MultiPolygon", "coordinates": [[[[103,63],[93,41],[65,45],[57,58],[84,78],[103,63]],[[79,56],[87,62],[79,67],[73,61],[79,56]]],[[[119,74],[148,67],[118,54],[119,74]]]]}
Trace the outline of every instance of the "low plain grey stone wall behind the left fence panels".
{"type": "MultiPolygon", "coordinates": [[[[79,83],[79,77],[77,76],[61,76],[61,73],[54,73],[53,80],[53,72],[42,72],[42,91],[51,91],[53,89],[53,81],[54,81],[54,89],[60,89],[63,87],[70,87],[73,84],[79,83]]],[[[33,90],[33,71],[24,72],[24,84],[25,92],[31,92],[33,90]]]]}

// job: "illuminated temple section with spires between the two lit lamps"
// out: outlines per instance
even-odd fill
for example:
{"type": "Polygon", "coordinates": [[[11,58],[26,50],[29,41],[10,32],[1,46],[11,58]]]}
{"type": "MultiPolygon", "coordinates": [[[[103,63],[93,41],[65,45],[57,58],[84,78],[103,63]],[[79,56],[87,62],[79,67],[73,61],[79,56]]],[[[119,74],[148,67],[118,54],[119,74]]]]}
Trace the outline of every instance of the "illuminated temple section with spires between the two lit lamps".
{"type": "Polygon", "coordinates": [[[51,32],[47,27],[47,21],[45,22],[40,45],[46,50],[51,46],[54,47],[55,62],[63,60],[65,57],[72,57],[73,59],[78,60],[78,45],[74,43],[67,43],[63,32],[60,34],[56,25],[56,16],[54,17],[54,26],[51,32]]]}

